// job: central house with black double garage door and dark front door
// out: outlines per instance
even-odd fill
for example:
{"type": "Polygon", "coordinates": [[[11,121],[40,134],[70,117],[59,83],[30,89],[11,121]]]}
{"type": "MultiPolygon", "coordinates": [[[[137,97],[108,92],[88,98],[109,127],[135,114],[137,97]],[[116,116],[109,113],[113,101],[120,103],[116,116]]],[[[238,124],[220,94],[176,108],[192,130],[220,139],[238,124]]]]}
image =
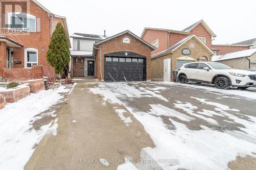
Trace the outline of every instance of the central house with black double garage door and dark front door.
{"type": "MultiPolygon", "coordinates": [[[[75,33],[71,37],[77,43],[78,38],[85,40],[88,35],[91,34],[75,33]]],[[[91,36],[94,42],[87,41],[87,44],[93,45],[92,53],[81,45],[71,52],[72,76],[88,77],[89,74],[99,81],[108,82],[151,80],[151,52],[156,49],[153,45],[128,30],[111,37],[91,36]],[[101,40],[95,40],[95,37],[101,40]]],[[[81,40],[77,45],[80,43],[81,40]]]]}

